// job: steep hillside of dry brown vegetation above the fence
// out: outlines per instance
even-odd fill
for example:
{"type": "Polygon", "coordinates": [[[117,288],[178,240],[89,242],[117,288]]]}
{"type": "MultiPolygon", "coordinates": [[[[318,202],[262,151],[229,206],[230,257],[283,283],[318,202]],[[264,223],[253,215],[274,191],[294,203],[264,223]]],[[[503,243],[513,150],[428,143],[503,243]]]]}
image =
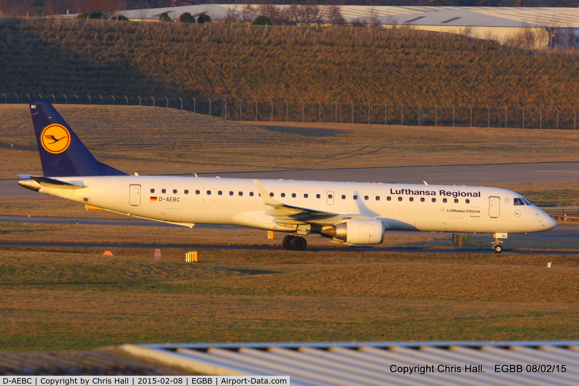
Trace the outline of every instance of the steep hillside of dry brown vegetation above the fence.
{"type": "Polygon", "coordinates": [[[579,95],[577,53],[408,29],[5,17],[0,52],[1,92],[68,102],[113,94],[120,103],[170,95],[570,109],[579,95]]]}

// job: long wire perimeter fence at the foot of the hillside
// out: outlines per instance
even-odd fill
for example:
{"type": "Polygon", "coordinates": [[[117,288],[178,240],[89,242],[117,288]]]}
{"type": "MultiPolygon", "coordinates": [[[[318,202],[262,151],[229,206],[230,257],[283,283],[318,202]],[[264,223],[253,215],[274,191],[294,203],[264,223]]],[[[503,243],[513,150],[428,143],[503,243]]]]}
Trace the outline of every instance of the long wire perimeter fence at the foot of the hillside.
{"type": "Polygon", "coordinates": [[[366,123],[404,126],[508,127],[576,130],[573,107],[422,105],[393,102],[274,101],[155,95],[0,93],[0,104],[47,100],[53,104],[131,105],[173,108],[226,120],[254,122],[366,123]]]}

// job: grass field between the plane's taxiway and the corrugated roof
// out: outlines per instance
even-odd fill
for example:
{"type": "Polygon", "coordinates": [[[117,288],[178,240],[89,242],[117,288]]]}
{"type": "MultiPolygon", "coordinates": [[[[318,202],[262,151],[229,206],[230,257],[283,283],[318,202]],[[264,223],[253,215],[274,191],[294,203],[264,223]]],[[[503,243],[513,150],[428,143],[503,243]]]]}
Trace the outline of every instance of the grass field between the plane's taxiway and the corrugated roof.
{"type": "Polygon", "coordinates": [[[577,339],[577,256],[3,249],[0,350],[577,339]],[[545,268],[553,261],[552,269],[545,268]]]}

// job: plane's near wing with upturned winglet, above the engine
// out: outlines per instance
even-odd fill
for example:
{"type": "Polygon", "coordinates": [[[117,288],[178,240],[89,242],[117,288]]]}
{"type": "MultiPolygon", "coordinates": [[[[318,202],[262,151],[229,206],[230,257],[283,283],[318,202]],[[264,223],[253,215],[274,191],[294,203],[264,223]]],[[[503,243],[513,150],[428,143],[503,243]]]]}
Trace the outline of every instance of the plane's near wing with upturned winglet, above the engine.
{"type": "Polygon", "coordinates": [[[263,199],[263,203],[272,207],[265,211],[266,215],[272,216],[277,220],[278,223],[283,224],[305,224],[305,223],[318,223],[324,225],[334,225],[336,223],[342,222],[343,219],[353,219],[353,218],[372,218],[366,215],[344,215],[334,212],[320,211],[318,209],[310,209],[303,207],[295,207],[294,205],[288,205],[280,203],[275,198],[270,197],[265,188],[257,181],[253,180],[255,186],[263,199]]]}

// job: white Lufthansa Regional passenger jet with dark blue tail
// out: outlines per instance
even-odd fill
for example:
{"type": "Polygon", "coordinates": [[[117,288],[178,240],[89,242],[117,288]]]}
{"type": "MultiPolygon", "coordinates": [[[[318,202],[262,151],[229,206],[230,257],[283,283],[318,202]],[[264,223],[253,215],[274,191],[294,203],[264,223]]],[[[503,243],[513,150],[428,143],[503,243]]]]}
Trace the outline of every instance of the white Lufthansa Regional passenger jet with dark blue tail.
{"type": "Polygon", "coordinates": [[[494,233],[501,252],[508,233],[556,225],[520,194],[482,186],[127,175],[97,161],[49,102],[30,111],[44,177],[21,175],[20,186],[138,218],[285,232],[297,251],[312,233],[369,245],[386,230],[421,230],[494,233]]]}

